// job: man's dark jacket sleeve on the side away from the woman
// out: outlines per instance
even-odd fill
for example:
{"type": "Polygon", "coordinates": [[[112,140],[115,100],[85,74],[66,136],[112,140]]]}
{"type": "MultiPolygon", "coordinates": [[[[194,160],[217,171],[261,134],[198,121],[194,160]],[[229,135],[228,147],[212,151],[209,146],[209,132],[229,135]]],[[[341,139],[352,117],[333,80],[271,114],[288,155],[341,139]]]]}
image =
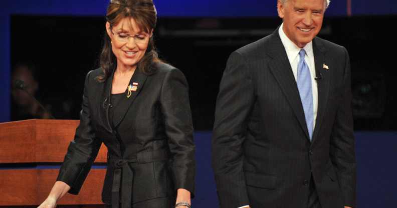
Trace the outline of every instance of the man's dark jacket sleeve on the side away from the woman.
{"type": "Polygon", "coordinates": [[[331,135],[330,158],[336,167],[344,205],[356,207],[356,159],[351,112],[350,60],[345,48],[342,104],[339,105],[331,135]]]}

